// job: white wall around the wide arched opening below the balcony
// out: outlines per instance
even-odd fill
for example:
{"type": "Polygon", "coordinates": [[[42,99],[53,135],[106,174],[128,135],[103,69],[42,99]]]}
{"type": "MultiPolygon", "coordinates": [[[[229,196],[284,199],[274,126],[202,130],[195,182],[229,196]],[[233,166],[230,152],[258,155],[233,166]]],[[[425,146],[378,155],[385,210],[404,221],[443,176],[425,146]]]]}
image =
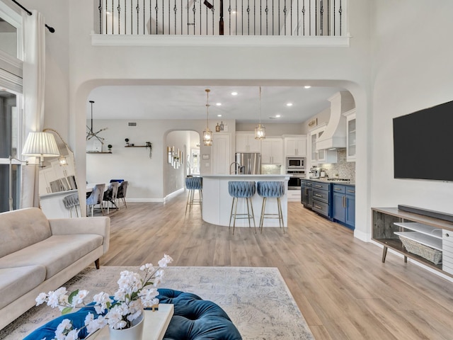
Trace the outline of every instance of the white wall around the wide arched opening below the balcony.
{"type": "MultiPolygon", "coordinates": [[[[93,0],[23,0],[23,5],[38,9],[56,29],[55,35],[47,34],[45,125],[69,128],[81,183],[86,180],[86,103],[96,86],[337,86],[355,96],[357,142],[362,145],[357,147],[357,229],[369,229],[369,1],[349,1],[350,47],[92,46],[93,0]]],[[[183,123],[168,130],[186,128],[183,123]]]]}

